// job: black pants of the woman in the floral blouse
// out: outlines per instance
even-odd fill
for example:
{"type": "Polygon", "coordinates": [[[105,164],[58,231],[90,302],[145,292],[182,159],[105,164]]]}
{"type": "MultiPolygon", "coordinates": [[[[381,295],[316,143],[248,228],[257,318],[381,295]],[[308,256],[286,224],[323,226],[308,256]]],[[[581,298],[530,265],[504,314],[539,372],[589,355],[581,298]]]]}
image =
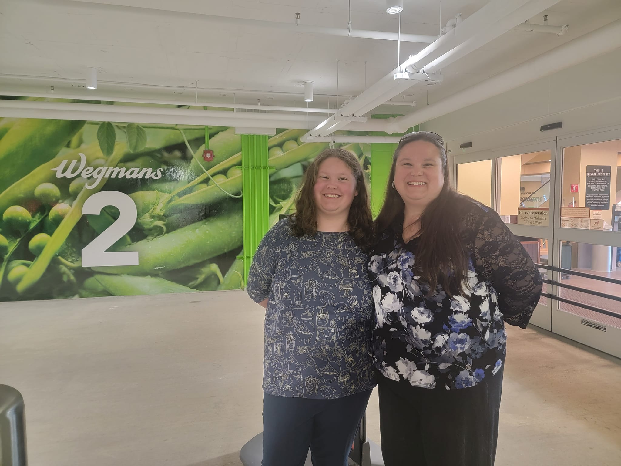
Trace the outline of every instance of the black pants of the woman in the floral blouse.
{"type": "Polygon", "coordinates": [[[479,385],[425,389],[379,377],[386,466],[493,466],[502,369],[479,385]]]}

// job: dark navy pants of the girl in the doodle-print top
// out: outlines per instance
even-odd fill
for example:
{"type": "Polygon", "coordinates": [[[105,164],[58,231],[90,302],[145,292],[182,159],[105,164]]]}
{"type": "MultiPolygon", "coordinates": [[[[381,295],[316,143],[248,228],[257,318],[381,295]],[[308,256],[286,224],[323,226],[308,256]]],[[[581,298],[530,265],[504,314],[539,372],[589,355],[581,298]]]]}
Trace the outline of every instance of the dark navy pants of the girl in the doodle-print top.
{"type": "Polygon", "coordinates": [[[337,400],[263,395],[262,466],[347,466],[371,390],[337,400]]]}

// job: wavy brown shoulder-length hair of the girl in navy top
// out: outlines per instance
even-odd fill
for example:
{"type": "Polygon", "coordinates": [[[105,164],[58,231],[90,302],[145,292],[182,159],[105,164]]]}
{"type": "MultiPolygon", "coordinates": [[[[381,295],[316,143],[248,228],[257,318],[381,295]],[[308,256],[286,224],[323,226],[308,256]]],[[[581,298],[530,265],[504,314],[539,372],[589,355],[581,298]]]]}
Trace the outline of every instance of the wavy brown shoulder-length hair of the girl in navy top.
{"type": "Polygon", "coordinates": [[[356,191],[351,203],[347,224],[354,241],[363,250],[368,251],[373,240],[373,216],[369,206],[369,191],[366,186],[365,174],[360,167],[358,158],[343,148],[330,148],[324,150],[315,157],[315,160],[307,168],[302,179],[302,186],[296,194],[296,212],[289,216],[291,232],[296,237],[312,236],[317,233],[317,206],[313,188],[317,181],[319,165],[325,159],[335,157],[342,160],[350,168],[356,180],[356,191]]]}

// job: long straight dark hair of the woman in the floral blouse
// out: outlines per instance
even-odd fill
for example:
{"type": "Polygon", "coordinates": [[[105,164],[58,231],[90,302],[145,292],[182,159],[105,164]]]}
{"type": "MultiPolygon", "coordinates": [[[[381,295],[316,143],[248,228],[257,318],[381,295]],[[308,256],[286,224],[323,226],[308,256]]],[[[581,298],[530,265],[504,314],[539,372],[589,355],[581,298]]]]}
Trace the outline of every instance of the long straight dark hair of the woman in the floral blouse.
{"type": "Polygon", "coordinates": [[[397,157],[406,144],[414,141],[430,142],[438,148],[442,160],[444,184],[437,198],[424,209],[420,216],[419,242],[415,250],[415,275],[429,285],[429,293],[435,293],[439,284],[450,296],[463,291],[463,283],[468,276],[469,257],[458,229],[459,219],[469,203],[469,198],[451,188],[451,180],[446,163],[446,150],[439,135],[417,132],[403,137],[392,156],[392,167],[388,176],[384,205],[375,220],[379,235],[390,227],[396,227],[401,238],[405,204],[401,195],[392,187],[397,157]]]}

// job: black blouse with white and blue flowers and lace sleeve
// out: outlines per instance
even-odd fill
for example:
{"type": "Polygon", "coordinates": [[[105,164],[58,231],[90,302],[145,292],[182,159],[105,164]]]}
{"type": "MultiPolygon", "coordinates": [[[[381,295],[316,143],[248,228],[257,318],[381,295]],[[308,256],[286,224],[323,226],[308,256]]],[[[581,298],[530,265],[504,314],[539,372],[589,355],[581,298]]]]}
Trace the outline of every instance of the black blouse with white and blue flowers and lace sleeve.
{"type": "Polygon", "coordinates": [[[452,298],[415,275],[418,239],[401,225],[379,237],[369,260],[376,324],[374,365],[394,381],[446,390],[494,377],[504,362],[504,322],[526,327],[542,277],[522,244],[492,209],[470,203],[460,221],[469,251],[468,286],[452,298]]]}

